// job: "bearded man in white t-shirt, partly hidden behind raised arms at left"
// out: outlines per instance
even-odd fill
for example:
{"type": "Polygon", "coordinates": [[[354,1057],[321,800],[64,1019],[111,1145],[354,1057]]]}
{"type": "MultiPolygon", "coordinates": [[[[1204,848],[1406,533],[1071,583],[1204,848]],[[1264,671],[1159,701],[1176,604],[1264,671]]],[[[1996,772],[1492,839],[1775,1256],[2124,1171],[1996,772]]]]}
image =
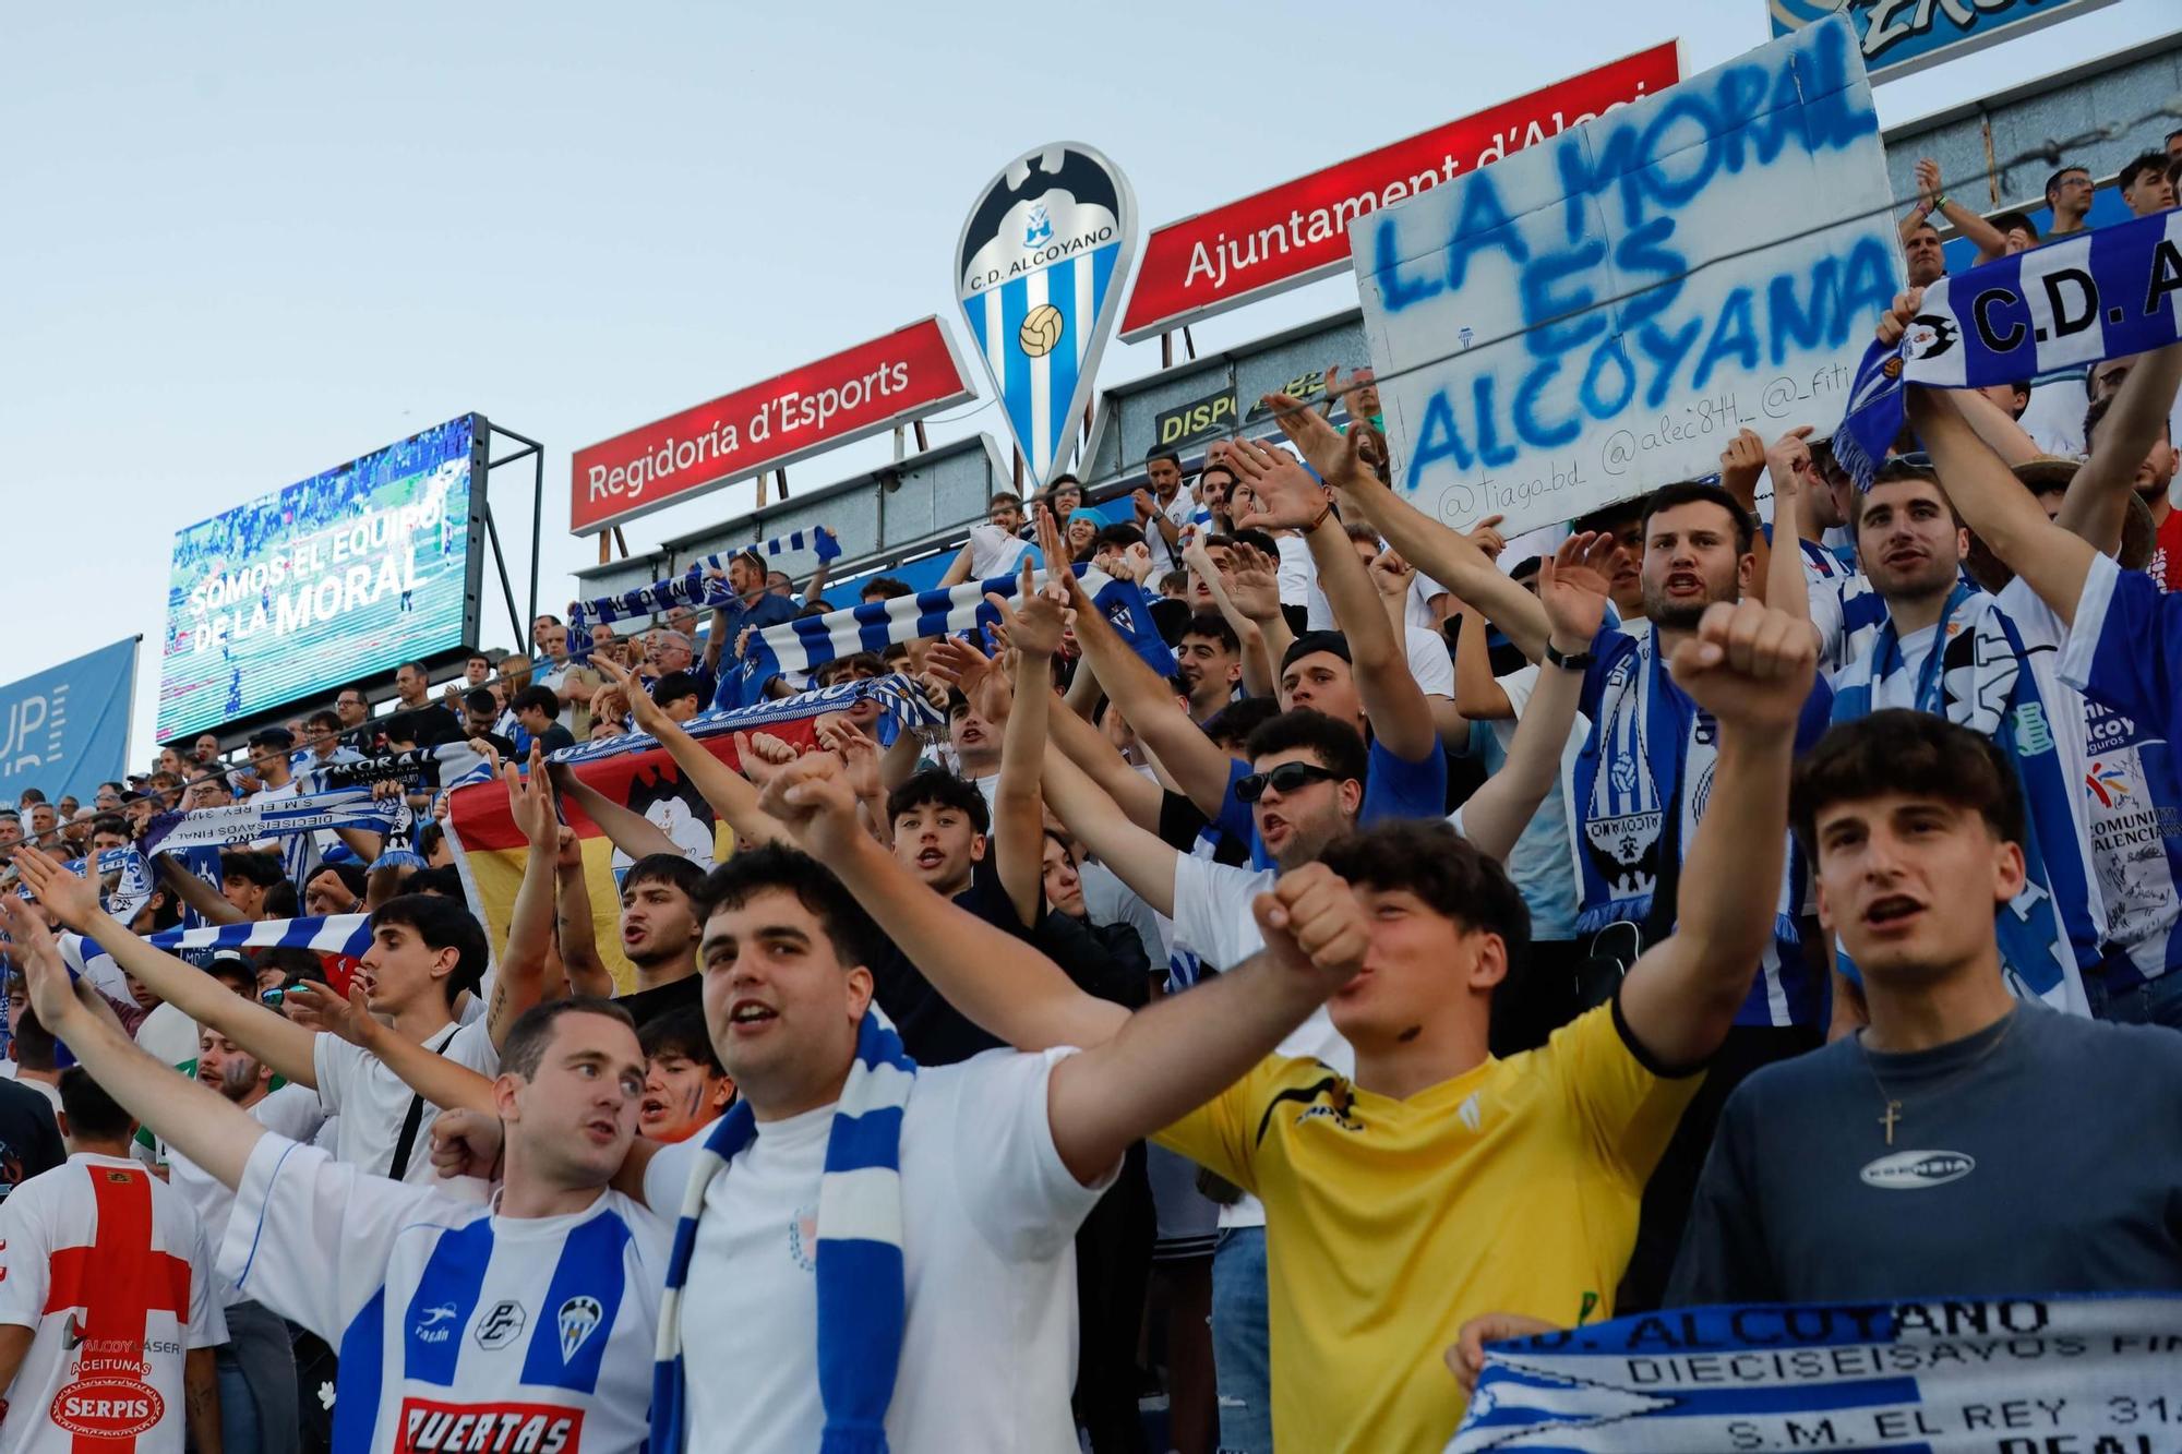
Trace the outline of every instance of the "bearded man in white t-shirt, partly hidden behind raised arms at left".
{"type": "MultiPolygon", "coordinates": [[[[207,974],[244,1000],[257,996],[257,978],[240,956],[216,958],[207,974]]],[[[292,1142],[310,1142],[325,1122],[316,1092],[305,1085],[273,1089],[273,1068],[214,1026],[203,1026],[196,1035],[196,1083],[209,1085],[229,1105],[249,1111],[257,1124],[292,1142]]],[[[166,1181],[205,1223],[205,1244],[218,1247],[227,1238],[236,1194],[172,1146],[166,1148],[166,1181]]],[[[220,1447],[229,1454],[255,1450],[284,1454],[299,1447],[295,1347],[288,1325],[271,1308],[236,1292],[227,1277],[214,1282],[214,1292],[227,1312],[227,1343],[216,1358],[220,1447]]]]}

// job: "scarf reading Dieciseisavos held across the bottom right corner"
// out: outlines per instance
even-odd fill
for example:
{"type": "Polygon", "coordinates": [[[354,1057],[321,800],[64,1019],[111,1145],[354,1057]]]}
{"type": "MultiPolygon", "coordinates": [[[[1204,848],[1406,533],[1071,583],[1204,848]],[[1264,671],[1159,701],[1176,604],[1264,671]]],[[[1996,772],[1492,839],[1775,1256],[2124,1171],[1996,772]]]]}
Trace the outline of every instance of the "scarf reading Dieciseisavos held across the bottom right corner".
{"type": "Polygon", "coordinates": [[[1685,1308],[1486,1347],[1447,1454],[2173,1450],[2182,1297],[1685,1308]]]}

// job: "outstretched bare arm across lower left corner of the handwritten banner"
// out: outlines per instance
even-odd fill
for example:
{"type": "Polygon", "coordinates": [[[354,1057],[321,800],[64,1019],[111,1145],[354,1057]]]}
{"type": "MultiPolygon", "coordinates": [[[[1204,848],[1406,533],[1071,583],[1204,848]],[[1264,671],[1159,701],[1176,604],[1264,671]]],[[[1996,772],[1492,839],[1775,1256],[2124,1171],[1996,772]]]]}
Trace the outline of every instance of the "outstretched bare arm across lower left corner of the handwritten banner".
{"type": "Polygon", "coordinates": [[[1525,657],[1536,662],[1545,653],[1547,620],[1530,592],[1501,574],[1484,550],[1471,539],[1416,509],[1357,458],[1362,434],[1335,432],[1324,417],[1303,400],[1285,393],[1268,393],[1263,404],[1274,410],[1274,419],[1290,443],[1303,450],[1311,469],[1331,485],[1344,504],[1355,504],[1364,520],[1386,537],[1386,544],[1401,550],[1427,576],[1453,592],[1464,605],[1486,613],[1525,657]]]}

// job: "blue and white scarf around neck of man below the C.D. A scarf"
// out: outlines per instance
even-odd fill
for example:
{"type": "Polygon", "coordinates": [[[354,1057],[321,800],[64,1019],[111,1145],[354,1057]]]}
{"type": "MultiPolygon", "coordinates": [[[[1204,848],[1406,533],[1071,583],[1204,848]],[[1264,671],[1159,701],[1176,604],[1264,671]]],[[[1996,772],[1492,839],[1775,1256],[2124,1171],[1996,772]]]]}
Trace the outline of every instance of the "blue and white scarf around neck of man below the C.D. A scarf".
{"type": "MultiPolygon", "coordinates": [[[[2018,993],[2053,1009],[2090,1013],[2082,972],[2099,963],[2099,930],[2069,810],[2069,797],[2079,788],[2060,760],[2051,712],[2040,699],[2016,622],[1992,596],[1955,585],[1931,653],[1909,681],[1901,633],[1887,618],[1872,648],[1842,668],[1833,688],[1833,720],[1853,723],[1883,707],[1944,716],[1992,738],[2016,764],[2027,808],[2025,878],[2023,893],[1997,919],[2001,958],[2018,993]]],[[[2060,710],[2082,712],[2077,703],[2060,703],[2060,710]]]]}

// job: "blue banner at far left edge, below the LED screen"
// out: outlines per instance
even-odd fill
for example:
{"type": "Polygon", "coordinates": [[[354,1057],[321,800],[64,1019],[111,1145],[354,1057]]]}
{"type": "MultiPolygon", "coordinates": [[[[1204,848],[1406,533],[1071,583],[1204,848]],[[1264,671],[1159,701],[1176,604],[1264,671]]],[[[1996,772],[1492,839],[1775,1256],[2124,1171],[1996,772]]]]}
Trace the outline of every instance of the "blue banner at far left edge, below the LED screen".
{"type": "Polygon", "coordinates": [[[137,640],[0,686],[0,803],[24,788],[89,803],[122,775],[137,640]]]}

